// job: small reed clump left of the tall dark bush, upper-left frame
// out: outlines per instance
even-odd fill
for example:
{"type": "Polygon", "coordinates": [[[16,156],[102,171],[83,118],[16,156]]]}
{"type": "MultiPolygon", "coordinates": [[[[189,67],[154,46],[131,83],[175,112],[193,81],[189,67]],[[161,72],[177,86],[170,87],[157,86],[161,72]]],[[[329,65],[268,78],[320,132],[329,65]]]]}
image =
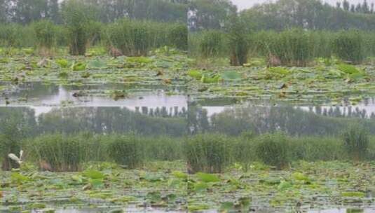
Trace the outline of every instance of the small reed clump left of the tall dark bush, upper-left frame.
{"type": "Polygon", "coordinates": [[[57,28],[50,20],[41,20],[32,24],[36,36],[36,48],[41,55],[51,55],[56,46],[57,28]]]}

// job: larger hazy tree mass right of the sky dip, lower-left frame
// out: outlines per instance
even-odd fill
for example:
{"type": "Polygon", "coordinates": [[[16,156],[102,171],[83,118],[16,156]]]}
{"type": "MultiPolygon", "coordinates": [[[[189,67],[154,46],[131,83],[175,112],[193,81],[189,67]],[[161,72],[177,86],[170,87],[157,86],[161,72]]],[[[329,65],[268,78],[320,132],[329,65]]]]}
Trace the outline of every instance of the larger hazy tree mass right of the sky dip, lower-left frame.
{"type": "Polygon", "coordinates": [[[163,108],[150,113],[146,107],[142,112],[121,107],[79,107],[53,109],[39,116],[41,132],[139,132],[144,135],[184,135],[186,111],[177,116],[168,114],[163,108]],[[147,114],[146,114],[147,112],[147,114]]]}

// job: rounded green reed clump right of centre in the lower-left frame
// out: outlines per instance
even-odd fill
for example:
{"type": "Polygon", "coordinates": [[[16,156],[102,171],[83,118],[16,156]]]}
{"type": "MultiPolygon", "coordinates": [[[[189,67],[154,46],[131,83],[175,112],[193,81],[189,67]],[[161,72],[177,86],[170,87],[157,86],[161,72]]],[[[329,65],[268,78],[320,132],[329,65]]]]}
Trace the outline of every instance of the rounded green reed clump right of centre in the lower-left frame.
{"type": "Polygon", "coordinates": [[[139,135],[111,135],[108,138],[108,152],[118,164],[135,169],[144,161],[144,141],[139,135]]]}

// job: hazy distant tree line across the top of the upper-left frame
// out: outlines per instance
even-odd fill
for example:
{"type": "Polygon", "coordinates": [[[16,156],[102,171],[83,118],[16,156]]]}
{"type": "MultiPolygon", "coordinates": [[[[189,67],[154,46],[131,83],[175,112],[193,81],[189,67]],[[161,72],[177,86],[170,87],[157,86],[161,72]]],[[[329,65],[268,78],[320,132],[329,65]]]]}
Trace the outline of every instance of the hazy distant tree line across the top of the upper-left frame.
{"type": "MultiPolygon", "coordinates": [[[[0,22],[26,25],[48,19],[62,24],[62,13],[69,6],[69,1],[71,0],[0,0],[0,22]]],[[[93,10],[100,22],[114,22],[121,18],[186,22],[187,0],[79,1],[93,10]]]]}

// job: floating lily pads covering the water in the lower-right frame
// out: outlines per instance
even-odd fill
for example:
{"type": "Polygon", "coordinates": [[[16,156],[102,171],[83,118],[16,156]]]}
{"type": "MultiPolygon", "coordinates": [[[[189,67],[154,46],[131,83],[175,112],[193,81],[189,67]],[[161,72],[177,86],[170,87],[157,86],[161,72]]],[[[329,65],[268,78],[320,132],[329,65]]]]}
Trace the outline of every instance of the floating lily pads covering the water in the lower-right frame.
{"type": "Polygon", "coordinates": [[[373,179],[365,178],[373,164],[355,165],[337,161],[292,164],[290,170],[229,170],[220,181],[205,184],[196,174],[189,174],[189,210],[271,211],[298,209],[374,208],[368,188],[373,179]],[[357,183],[360,183],[359,185],[357,183]],[[200,184],[202,185],[202,184],[200,184]],[[203,186],[203,185],[202,185],[203,186]],[[240,210],[243,209],[243,210],[240,210]],[[245,210],[244,210],[245,209],[245,210]]]}

